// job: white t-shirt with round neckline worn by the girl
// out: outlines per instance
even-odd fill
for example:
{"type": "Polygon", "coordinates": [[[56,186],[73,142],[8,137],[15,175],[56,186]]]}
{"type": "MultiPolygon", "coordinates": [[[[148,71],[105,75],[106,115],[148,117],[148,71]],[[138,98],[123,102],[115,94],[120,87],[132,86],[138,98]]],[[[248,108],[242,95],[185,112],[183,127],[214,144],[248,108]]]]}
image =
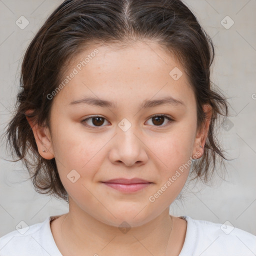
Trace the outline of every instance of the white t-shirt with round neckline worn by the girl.
{"type": "MultiPolygon", "coordinates": [[[[50,229],[50,220],[58,216],[0,237],[0,256],[62,256],[50,229]]],[[[256,255],[255,235],[231,225],[180,217],[187,221],[187,229],[179,256],[256,255]]]]}

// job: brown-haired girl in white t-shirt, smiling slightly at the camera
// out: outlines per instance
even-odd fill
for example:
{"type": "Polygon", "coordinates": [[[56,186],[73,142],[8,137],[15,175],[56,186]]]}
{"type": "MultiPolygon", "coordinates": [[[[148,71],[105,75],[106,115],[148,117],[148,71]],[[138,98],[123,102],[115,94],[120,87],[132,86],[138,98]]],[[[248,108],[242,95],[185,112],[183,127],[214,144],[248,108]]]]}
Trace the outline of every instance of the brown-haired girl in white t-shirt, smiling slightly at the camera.
{"type": "Polygon", "coordinates": [[[189,170],[207,181],[226,159],[213,57],[180,0],[57,7],[26,50],[6,135],[36,190],[69,211],[4,235],[0,255],[255,255],[244,230],[169,215],[189,170]]]}

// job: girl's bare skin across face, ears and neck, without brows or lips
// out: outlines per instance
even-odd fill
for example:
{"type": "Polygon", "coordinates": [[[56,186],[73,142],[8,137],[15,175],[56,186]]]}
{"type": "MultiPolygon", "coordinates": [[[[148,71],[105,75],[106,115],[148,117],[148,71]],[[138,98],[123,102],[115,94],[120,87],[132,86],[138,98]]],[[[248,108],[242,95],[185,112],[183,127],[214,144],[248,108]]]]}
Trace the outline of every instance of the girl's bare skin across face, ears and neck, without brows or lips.
{"type": "MultiPolygon", "coordinates": [[[[175,58],[157,43],[136,42],[118,49],[114,45],[97,49],[96,56],[52,99],[50,129],[32,124],[27,118],[40,155],[45,159],[55,157],[69,196],[69,212],[51,222],[53,238],[63,256],[158,256],[164,255],[167,242],[166,254],[178,255],[184,243],[186,221],[170,218],[169,205],[181,191],[189,168],[180,172],[153,202],[149,196],[190,157],[201,157],[210,107],[203,106],[207,119],[196,130],[196,101],[187,76],[175,58]],[[183,72],[178,80],[169,75],[174,67],[183,72]],[[83,96],[115,102],[117,108],[69,105],[83,96]],[[143,100],[164,96],[182,100],[184,105],[139,108],[143,100]],[[165,117],[157,125],[150,118],[153,114],[166,114],[174,121],[165,117]],[[91,119],[82,122],[91,115],[105,118],[101,126],[91,119]],[[118,126],[123,118],[131,124],[126,131],[118,126]],[[80,175],[74,183],[67,178],[72,169],[80,175]],[[152,183],[142,190],[122,193],[100,182],[118,177],[139,177],[152,183]],[[126,233],[118,228],[123,221],[131,227],[126,233]]],[[[80,53],[67,74],[89,52],[80,53]]]]}

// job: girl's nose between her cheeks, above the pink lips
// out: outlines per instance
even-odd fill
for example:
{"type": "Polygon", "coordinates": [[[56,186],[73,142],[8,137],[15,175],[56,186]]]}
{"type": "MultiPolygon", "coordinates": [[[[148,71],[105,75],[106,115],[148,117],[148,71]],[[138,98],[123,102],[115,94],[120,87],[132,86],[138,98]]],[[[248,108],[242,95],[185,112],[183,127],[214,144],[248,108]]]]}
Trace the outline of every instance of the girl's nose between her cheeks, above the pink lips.
{"type": "Polygon", "coordinates": [[[117,134],[111,141],[109,160],[113,164],[139,166],[145,164],[148,159],[146,148],[146,141],[133,125],[126,131],[117,128],[117,134]]]}

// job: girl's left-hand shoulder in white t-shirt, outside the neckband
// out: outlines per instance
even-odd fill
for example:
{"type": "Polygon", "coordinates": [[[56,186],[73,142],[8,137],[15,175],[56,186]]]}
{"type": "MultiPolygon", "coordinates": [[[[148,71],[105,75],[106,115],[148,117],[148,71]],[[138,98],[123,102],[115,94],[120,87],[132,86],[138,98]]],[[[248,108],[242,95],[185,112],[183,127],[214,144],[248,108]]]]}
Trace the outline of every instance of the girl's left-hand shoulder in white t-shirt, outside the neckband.
{"type": "Polygon", "coordinates": [[[48,221],[45,219],[41,223],[27,226],[21,223],[20,228],[13,230],[0,237],[0,255],[42,255],[40,231],[43,224],[48,221]],[[23,226],[23,227],[22,227],[23,226]]]}

